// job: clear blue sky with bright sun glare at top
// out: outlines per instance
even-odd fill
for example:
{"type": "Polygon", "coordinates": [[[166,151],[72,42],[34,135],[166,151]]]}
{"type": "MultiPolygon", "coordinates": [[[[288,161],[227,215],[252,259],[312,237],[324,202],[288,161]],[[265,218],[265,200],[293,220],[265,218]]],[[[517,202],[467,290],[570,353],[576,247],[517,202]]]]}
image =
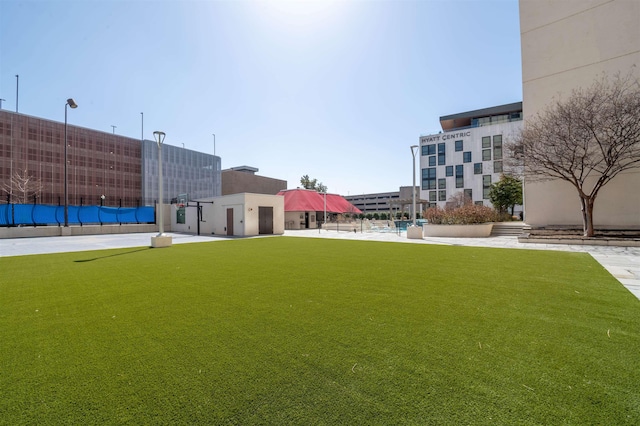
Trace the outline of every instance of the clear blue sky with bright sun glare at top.
{"type": "Polygon", "coordinates": [[[517,0],[0,0],[15,111],[342,195],[411,185],[439,117],[522,100],[517,0]]]}

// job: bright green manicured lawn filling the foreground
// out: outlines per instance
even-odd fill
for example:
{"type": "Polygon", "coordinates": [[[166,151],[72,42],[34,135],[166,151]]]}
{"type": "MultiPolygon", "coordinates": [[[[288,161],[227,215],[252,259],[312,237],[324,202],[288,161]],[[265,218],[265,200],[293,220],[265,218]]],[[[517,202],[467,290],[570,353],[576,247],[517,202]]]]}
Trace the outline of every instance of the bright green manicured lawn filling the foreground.
{"type": "Polygon", "coordinates": [[[589,255],[261,238],[0,258],[0,424],[639,424],[589,255]]]}

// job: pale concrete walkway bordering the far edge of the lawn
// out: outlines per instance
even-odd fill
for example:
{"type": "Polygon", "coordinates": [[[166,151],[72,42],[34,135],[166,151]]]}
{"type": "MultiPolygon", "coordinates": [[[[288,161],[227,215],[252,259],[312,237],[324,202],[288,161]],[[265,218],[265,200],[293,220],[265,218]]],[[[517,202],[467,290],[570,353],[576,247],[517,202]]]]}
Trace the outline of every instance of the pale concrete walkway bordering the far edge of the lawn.
{"type": "MultiPolygon", "coordinates": [[[[173,244],[225,241],[225,237],[196,236],[167,233],[173,244]]],[[[145,247],[151,245],[155,233],[108,234],[70,237],[0,239],[0,258],[30,254],[62,253],[111,248],[145,247]]],[[[386,241],[405,244],[441,244],[453,246],[493,247],[530,250],[558,250],[589,253],[611,275],[640,299],[640,247],[612,247],[564,244],[528,244],[518,242],[517,237],[501,236],[489,238],[424,238],[407,239],[406,232],[354,233],[345,231],[299,230],[285,231],[285,236],[306,238],[337,238],[343,240],[386,241]]]]}

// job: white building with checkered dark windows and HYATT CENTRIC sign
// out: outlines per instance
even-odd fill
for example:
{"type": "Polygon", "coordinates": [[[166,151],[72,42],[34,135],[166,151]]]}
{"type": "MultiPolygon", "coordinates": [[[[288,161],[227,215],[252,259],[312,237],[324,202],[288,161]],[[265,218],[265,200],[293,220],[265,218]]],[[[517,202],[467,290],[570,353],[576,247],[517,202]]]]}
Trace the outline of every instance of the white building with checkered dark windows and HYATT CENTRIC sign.
{"type": "Polygon", "coordinates": [[[489,189],[503,173],[503,144],[522,127],[522,102],[443,116],[440,124],[442,132],[420,136],[420,198],[444,207],[462,193],[491,206],[489,189]]]}

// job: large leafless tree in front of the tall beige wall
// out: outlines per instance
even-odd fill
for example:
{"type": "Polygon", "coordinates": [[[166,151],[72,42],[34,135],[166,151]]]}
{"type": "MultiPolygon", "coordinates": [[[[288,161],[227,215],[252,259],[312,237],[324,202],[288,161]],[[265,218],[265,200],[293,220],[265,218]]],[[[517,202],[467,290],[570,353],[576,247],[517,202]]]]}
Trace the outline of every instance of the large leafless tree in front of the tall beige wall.
{"type": "Polygon", "coordinates": [[[575,187],[584,236],[592,237],[599,191],[640,167],[640,83],[631,73],[603,75],[528,120],[507,150],[520,159],[526,180],[561,179],[575,187]]]}

